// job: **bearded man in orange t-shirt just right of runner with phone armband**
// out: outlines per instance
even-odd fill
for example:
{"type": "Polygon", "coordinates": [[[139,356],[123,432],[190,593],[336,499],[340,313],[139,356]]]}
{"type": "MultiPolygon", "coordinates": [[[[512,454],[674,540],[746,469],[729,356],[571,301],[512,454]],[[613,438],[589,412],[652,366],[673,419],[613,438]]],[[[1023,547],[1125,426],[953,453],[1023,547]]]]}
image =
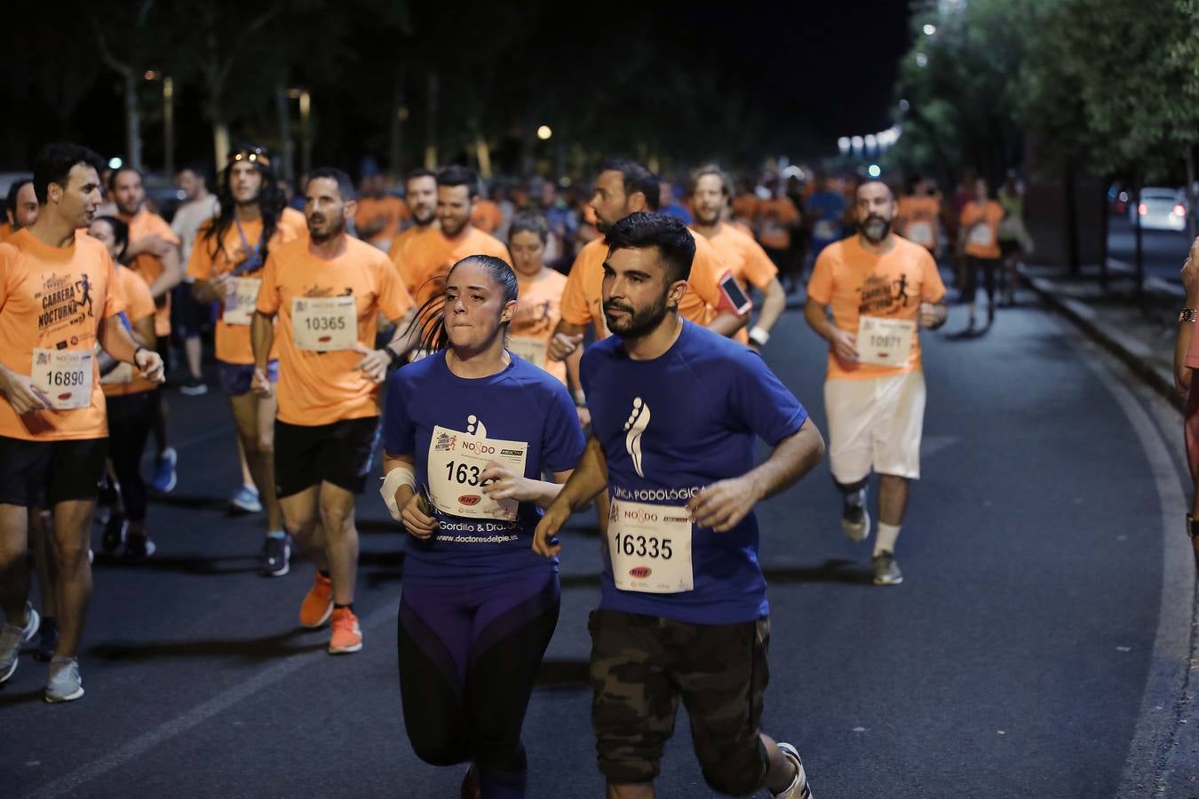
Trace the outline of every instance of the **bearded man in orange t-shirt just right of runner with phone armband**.
{"type": "Polygon", "coordinates": [[[748,335],[745,328],[736,339],[761,350],[770,340],[770,331],[787,309],[787,292],[778,282],[778,267],[766,252],[748,235],[722,220],[729,204],[729,181],[716,167],[704,167],[691,178],[691,207],[694,222],[691,229],[706,238],[727,267],[733,270],[737,285],[746,292],[753,285],[763,292],[758,323],[748,335]]]}

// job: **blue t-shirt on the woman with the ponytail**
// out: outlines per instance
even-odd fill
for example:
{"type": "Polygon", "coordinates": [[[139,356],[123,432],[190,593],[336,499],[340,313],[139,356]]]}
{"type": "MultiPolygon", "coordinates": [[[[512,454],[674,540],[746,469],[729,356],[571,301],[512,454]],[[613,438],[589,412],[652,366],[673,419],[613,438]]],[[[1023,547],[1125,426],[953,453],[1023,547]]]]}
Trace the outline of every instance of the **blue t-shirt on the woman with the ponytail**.
{"type": "MultiPolygon", "coordinates": [[[[583,430],[566,387],[528,361],[512,357],[504,371],[466,379],[450,371],[445,352],[396,371],[387,387],[384,448],[415,455],[418,486],[428,486],[434,425],[469,435],[529,444],[525,477],[574,468],[583,430]]],[[[469,519],[434,510],[432,538],[406,535],[403,577],[411,585],[483,582],[525,569],[556,570],[558,561],[532,551],[541,509],[522,502],[516,521],[469,519]]]]}

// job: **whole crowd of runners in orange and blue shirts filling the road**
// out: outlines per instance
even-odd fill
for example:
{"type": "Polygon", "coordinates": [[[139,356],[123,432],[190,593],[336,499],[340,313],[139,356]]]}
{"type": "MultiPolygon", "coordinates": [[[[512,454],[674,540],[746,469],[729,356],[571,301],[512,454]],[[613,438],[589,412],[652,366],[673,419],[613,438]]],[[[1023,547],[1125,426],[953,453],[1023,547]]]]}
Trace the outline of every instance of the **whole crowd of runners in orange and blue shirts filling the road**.
{"type": "Polygon", "coordinates": [[[829,343],[842,528],[870,535],[876,473],[873,579],[898,585],[920,333],[947,316],[938,258],[971,327],[983,274],[994,321],[1028,238],[1014,177],[994,200],[974,177],[946,199],[926,178],[899,190],[791,170],[735,184],[709,165],[676,190],[614,158],[585,189],[496,184],[487,199],[447,165],[398,187],[323,168],[293,193],[245,145],[215,193],[203,170],[180,172],[168,224],[138,170],[85,147],[48,145],[32,167],[0,230],[0,683],[29,643],[49,664],[48,702],[83,696],[92,525],[102,557],[153,555],[147,497],[179,479],[165,374],[181,355],[179,391],[209,391],[211,337],[241,465],[230,504],[263,515],[261,575],[306,556],[299,622],[327,625],[331,654],[363,646],[355,502],[380,477],[381,438],[381,502],[406,531],[409,739],[428,763],[469,764],[464,797],[525,793],[520,730],[571,556],[559,532],[591,507],[609,795],[653,795],[680,700],[715,789],[811,795],[795,747],[761,731],[753,509],[820,461],[825,436],[760,353],[795,297],[829,343]]]}

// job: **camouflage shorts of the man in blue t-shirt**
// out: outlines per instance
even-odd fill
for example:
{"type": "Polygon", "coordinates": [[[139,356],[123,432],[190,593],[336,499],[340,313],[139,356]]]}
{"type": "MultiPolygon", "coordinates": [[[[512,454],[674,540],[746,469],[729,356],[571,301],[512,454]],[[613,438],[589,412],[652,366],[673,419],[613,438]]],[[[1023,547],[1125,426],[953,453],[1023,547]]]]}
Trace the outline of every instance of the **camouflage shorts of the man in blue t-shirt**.
{"type": "Polygon", "coordinates": [[[731,794],[761,787],[769,619],[709,625],[597,610],[589,629],[591,722],[609,782],[657,776],[681,698],[707,783],[731,794]]]}

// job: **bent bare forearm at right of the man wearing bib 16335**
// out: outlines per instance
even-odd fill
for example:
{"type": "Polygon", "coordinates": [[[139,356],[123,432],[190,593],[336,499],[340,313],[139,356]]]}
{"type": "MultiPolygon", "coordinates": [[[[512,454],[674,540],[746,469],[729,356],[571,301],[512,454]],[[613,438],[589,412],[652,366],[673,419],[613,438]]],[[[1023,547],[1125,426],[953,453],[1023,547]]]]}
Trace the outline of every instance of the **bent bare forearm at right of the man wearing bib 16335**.
{"type": "Polygon", "coordinates": [[[691,517],[700,527],[725,533],[736,527],[763,500],[794,485],[824,458],[824,436],[812,419],[783,438],[770,458],[731,480],[705,486],[687,503],[691,517]]]}

